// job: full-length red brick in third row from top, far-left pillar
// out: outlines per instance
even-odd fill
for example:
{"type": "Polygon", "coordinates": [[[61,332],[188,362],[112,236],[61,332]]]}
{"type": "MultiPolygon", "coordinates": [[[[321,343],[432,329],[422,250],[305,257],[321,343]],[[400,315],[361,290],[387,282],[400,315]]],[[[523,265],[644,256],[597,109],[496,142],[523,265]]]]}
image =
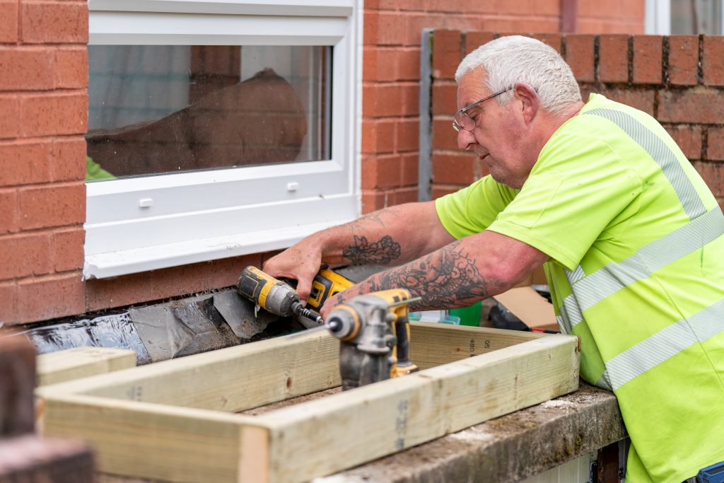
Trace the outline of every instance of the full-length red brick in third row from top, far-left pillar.
{"type": "Polygon", "coordinates": [[[87,93],[48,93],[21,99],[22,135],[85,134],[88,128],[87,93]]]}

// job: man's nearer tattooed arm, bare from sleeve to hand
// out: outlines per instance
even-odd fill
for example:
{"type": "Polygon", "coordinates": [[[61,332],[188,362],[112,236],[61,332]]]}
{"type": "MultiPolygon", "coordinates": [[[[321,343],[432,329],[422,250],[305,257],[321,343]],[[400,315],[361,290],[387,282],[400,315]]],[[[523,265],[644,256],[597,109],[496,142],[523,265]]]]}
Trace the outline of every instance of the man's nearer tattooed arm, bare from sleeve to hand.
{"type": "Polygon", "coordinates": [[[327,316],[355,295],[390,288],[406,288],[413,297],[421,297],[413,304],[415,310],[467,306],[517,285],[548,258],[531,245],[484,231],[368,277],[330,298],[321,314],[327,316]]]}

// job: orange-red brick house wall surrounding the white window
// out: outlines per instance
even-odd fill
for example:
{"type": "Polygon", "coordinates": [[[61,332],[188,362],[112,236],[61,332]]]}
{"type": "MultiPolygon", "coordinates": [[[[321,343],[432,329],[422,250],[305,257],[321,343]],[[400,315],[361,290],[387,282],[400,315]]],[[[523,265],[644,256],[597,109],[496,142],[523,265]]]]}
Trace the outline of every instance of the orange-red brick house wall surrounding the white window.
{"type": "MultiPolygon", "coordinates": [[[[364,212],[416,199],[423,28],[558,33],[562,20],[581,32],[644,28],[644,0],[365,3],[364,212]],[[562,3],[569,6],[565,11],[562,3]]],[[[83,0],[0,0],[0,322],[46,321],[227,287],[243,266],[268,256],[82,280],[87,42],[83,0]]],[[[454,50],[449,54],[456,57],[454,50]]],[[[445,116],[442,109],[453,109],[454,102],[449,106],[438,106],[437,115],[445,116]]],[[[717,134],[702,128],[700,151],[707,135],[717,134]]],[[[710,164],[702,169],[718,173],[710,164]]]]}

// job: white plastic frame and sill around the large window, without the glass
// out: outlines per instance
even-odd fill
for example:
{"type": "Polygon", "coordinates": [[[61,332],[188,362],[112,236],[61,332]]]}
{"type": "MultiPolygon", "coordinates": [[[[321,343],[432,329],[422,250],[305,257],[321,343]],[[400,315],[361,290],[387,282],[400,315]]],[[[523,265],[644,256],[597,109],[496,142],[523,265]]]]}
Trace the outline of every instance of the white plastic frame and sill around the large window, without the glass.
{"type": "Polygon", "coordinates": [[[86,183],[85,278],[286,248],[361,214],[361,0],[90,0],[89,43],[332,46],[332,151],[86,183]]]}

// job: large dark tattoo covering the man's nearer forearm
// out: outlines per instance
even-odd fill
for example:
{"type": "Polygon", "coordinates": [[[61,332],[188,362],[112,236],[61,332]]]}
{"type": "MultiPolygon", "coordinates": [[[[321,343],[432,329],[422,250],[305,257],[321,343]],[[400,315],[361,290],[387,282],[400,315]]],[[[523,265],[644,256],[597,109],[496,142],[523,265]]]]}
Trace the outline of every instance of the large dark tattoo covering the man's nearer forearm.
{"type": "Polygon", "coordinates": [[[413,297],[422,297],[412,304],[413,310],[451,308],[487,297],[488,282],[495,285],[496,281],[486,280],[475,260],[458,245],[459,240],[422,259],[371,277],[369,291],[406,288],[413,297]]]}

